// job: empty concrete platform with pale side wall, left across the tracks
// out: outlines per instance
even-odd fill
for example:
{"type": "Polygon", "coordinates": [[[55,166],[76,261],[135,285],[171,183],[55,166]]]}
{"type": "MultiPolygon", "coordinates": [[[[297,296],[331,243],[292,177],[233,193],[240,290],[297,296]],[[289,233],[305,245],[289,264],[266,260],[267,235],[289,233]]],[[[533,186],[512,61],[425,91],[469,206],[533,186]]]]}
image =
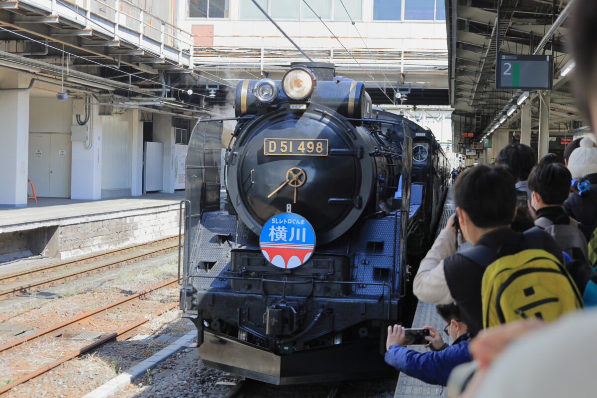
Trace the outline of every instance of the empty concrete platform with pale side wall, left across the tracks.
{"type": "Polygon", "coordinates": [[[179,233],[184,192],[101,200],[29,199],[0,208],[0,266],[42,255],[66,259],[179,233]]]}

